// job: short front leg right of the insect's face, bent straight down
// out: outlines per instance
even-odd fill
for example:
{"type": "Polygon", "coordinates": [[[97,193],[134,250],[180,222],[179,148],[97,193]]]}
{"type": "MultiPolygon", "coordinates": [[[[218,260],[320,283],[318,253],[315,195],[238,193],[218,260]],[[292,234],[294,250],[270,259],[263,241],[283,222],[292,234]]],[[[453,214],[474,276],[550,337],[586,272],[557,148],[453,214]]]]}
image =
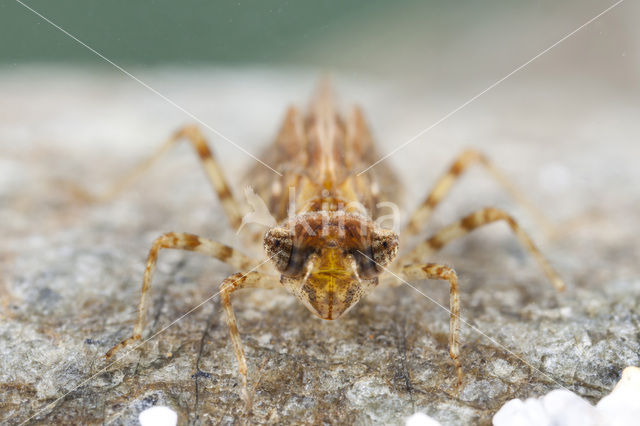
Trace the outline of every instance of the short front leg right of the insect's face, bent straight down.
{"type": "Polygon", "coordinates": [[[458,276],[452,268],[437,263],[410,264],[402,267],[400,273],[409,280],[446,280],[449,282],[449,355],[456,368],[457,386],[462,385],[462,365],[460,355],[460,299],[458,297],[458,276]]]}

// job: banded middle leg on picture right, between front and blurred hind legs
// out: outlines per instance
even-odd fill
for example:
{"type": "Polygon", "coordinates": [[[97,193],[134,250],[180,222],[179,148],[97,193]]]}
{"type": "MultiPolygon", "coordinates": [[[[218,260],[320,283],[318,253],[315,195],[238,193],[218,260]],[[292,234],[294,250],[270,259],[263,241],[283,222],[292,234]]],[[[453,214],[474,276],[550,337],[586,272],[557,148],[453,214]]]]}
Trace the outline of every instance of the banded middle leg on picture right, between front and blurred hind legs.
{"type": "MultiPolygon", "coordinates": [[[[533,244],[529,235],[518,225],[518,223],[509,214],[502,210],[487,207],[481,210],[471,213],[467,217],[460,219],[459,221],[452,223],[449,226],[441,229],[434,236],[419,244],[413,249],[404,259],[404,261],[416,261],[419,259],[425,259],[432,253],[440,250],[449,242],[467,235],[474,229],[493,223],[499,220],[505,221],[515,236],[520,241],[520,244],[536,259],[545,275],[556,287],[558,291],[563,291],[565,285],[558,275],[558,273],[551,267],[547,259],[540,253],[540,250],[533,244]]],[[[401,261],[402,263],[402,261],[401,261]]]]}

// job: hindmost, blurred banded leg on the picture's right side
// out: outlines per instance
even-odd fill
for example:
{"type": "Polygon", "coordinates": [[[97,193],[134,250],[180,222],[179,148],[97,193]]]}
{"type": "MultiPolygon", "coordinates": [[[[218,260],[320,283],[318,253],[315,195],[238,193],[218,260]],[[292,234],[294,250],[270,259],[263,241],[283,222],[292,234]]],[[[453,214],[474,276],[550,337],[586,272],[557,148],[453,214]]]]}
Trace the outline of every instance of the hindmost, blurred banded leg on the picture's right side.
{"type": "Polygon", "coordinates": [[[438,180],[433,190],[429,193],[429,196],[422,202],[420,207],[413,213],[405,231],[409,234],[418,233],[422,227],[428,222],[431,217],[431,213],[435,210],[436,206],[451,190],[453,184],[458,180],[462,174],[473,164],[479,163],[485,167],[485,169],[494,177],[495,180],[502,185],[511,196],[522,204],[542,227],[543,231],[547,235],[551,234],[552,226],[546,220],[544,215],[533,205],[522,192],[516,189],[507,179],[502,172],[497,169],[487,157],[473,149],[467,149],[460,154],[453,162],[449,170],[438,180]]]}

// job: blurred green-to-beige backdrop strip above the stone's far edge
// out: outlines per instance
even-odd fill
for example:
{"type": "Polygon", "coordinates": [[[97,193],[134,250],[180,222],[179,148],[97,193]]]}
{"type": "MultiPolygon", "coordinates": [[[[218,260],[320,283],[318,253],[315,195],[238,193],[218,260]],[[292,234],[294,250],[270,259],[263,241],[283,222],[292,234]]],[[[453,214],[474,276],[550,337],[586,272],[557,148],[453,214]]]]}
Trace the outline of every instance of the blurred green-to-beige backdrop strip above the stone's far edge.
{"type": "MultiPolygon", "coordinates": [[[[431,88],[495,81],[615,2],[21,1],[122,66],[293,66],[430,81],[431,88]]],[[[636,87],[634,16],[638,2],[626,1],[535,67],[546,63],[543,73],[569,80],[588,70],[605,83],[613,73],[636,87]]],[[[2,1],[0,65],[42,63],[109,68],[19,2],[2,1]]]]}

